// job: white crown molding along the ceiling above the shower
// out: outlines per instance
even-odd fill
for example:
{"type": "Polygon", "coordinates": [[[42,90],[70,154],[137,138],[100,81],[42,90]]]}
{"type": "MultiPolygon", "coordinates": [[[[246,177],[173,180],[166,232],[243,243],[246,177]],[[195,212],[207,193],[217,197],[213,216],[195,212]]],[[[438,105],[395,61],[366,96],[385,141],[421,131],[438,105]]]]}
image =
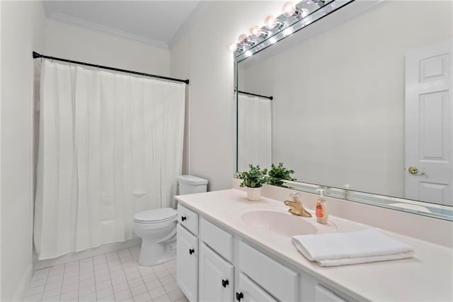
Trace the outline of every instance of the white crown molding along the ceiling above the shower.
{"type": "Polygon", "coordinates": [[[55,11],[50,11],[50,9],[47,5],[45,5],[45,11],[46,11],[47,17],[53,21],[59,21],[62,23],[67,23],[67,24],[79,26],[79,27],[86,28],[86,29],[97,30],[102,33],[110,33],[112,35],[118,35],[122,38],[136,40],[136,41],[139,41],[142,43],[146,43],[146,44],[153,45],[156,47],[161,47],[161,48],[168,50],[168,44],[158,41],[158,40],[146,38],[142,35],[134,35],[132,33],[127,33],[126,31],[123,31],[123,30],[117,30],[115,28],[110,28],[108,26],[101,26],[100,24],[93,23],[93,22],[86,21],[86,20],[79,19],[79,18],[75,18],[73,16],[68,16],[64,13],[56,13],[55,11]]]}

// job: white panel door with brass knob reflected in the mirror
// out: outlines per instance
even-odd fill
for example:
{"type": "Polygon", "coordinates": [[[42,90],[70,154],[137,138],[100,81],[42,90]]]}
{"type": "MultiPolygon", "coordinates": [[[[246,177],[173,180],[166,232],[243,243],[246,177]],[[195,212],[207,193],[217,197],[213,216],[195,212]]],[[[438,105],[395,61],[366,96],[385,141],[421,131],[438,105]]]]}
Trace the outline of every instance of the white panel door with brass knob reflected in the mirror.
{"type": "Polygon", "coordinates": [[[452,41],[406,55],[405,197],[452,203],[452,41]]]}

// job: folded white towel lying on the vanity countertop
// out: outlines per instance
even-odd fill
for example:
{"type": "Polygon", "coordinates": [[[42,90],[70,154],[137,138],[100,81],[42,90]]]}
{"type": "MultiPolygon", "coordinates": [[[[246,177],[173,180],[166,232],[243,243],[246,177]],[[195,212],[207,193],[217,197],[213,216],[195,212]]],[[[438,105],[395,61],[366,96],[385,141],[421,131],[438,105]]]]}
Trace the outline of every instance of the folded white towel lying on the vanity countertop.
{"type": "Polygon", "coordinates": [[[413,248],[378,230],[296,235],[292,242],[307,259],[323,267],[410,258],[413,248]]]}

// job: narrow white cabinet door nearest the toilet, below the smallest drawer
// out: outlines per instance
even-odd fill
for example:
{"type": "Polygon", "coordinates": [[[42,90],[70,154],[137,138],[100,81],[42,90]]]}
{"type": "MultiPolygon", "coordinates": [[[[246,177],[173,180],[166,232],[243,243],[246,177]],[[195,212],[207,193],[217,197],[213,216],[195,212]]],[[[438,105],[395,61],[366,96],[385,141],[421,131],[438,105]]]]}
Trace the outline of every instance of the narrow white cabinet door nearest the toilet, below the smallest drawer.
{"type": "Polygon", "coordinates": [[[176,281],[189,301],[195,302],[198,286],[198,238],[178,224],[176,244],[176,281]]]}

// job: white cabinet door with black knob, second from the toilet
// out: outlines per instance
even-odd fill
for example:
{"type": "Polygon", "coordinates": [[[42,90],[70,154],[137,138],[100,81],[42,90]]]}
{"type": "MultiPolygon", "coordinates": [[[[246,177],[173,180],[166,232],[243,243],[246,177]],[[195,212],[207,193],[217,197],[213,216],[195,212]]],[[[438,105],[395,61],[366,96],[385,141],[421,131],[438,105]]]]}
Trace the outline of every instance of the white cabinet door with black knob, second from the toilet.
{"type": "Polygon", "coordinates": [[[200,243],[200,301],[233,301],[234,267],[200,243]]]}

